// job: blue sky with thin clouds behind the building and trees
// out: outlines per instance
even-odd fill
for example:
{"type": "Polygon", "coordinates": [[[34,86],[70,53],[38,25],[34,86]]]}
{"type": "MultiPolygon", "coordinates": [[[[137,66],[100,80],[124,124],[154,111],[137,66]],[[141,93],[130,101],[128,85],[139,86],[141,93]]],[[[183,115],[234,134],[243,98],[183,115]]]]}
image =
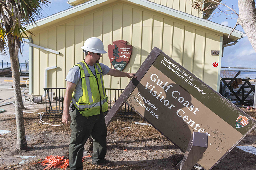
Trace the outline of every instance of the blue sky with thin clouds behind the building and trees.
{"type": "MultiPolygon", "coordinates": [[[[43,7],[42,14],[44,17],[50,16],[52,14],[58,13],[60,11],[66,10],[68,8],[71,8],[67,2],[67,0],[49,0],[51,4],[49,4],[49,8],[43,7]]],[[[237,13],[239,13],[238,10],[238,0],[222,0],[222,2],[225,2],[225,4],[229,7],[232,7],[235,9],[237,13]]],[[[221,8],[222,10],[227,10],[227,8],[221,8]]],[[[216,9],[213,13],[218,12],[218,9],[216,9]]],[[[212,18],[211,21],[229,26],[234,27],[236,25],[236,15],[232,15],[232,18],[230,15],[226,15],[224,13],[217,13],[212,18]],[[233,18],[233,19],[232,19],[233,18]]],[[[237,30],[243,31],[243,28],[238,25],[236,27],[237,30]]],[[[23,48],[23,56],[19,56],[20,63],[25,63],[25,60],[29,59],[29,46],[24,44],[23,48]]],[[[3,60],[3,62],[7,61],[10,62],[9,56],[0,55],[0,62],[3,60]]],[[[244,37],[240,39],[236,45],[229,46],[224,48],[224,53],[221,61],[221,66],[228,66],[228,67],[255,67],[256,63],[256,53],[254,52],[252,45],[250,44],[247,37],[244,37]]]]}

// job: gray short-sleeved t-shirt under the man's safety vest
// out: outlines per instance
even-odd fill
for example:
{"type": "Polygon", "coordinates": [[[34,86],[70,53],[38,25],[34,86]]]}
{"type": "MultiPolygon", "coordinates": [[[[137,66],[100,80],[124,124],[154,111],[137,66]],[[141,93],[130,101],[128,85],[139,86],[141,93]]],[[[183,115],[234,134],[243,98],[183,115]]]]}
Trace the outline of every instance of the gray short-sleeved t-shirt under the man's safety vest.
{"type": "MultiPolygon", "coordinates": [[[[108,74],[110,68],[102,63],[99,63],[102,69],[102,75],[106,75],[108,74]]],[[[95,75],[95,68],[94,65],[88,65],[88,67],[90,68],[90,70],[92,71],[92,73],[95,75]]],[[[81,75],[80,75],[80,68],[79,66],[74,66],[72,67],[69,72],[68,75],[65,79],[66,81],[72,82],[74,84],[76,84],[76,88],[74,90],[75,92],[75,99],[76,101],[80,98],[80,96],[83,95],[83,91],[82,91],[82,80],[81,80],[81,75]]]]}

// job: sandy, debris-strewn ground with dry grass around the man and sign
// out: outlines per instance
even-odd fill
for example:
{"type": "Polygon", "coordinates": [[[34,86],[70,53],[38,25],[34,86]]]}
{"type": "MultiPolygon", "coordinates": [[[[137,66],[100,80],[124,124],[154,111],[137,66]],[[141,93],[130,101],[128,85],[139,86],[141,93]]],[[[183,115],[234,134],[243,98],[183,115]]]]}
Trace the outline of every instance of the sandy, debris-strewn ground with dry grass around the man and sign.
{"type": "MultiPolygon", "coordinates": [[[[1,80],[2,78],[0,82],[1,80]]],[[[22,94],[29,96],[27,92],[28,90],[25,89],[22,94]]],[[[0,98],[2,98],[0,102],[12,96],[14,96],[12,89],[0,88],[0,98]]],[[[4,102],[9,101],[12,99],[4,102]]],[[[24,113],[28,149],[16,151],[16,122],[13,107],[13,104],[0,107],[6,110],[0,113],[0,129],[11,131],[0,136],[0,170],[42,170],[46,166],[33,163],[39,162],[47,155],[64,156],[68,159],[70,127],[41,124],[39,114],[34,113],[24,113]],[[20,156],[33,157],[25,159],[20,156]]],[[[26,112],[39,113],[45,110],[45,103],[27,103],[25,107],[28,108],[26,112]]],[[[256,118],[256,110],[245,108],[242,110],[256,118]]],[[[43,117],[43,121],[61,123],[61,117],[43,117]]],[[[176,165],[183,159],[183,153],[153,127],[137,125],[134,122],[147,123],[139,115],[134,115],[132,119],[116,117],[107,128],[106,159],[113,161],[112,167],[94,166],[90,158],[85,158],[84,170],[178,170],[179,167],[176,165]]],[[[253,129],[238,145],[256,147],[255,141],[256,129],[253,129]]],[[[84,156],[91,154],[92,152],[84,150],[84,156]]],[[[213,170],[255,170],[255,161],[256,155],[234,148],[213,170]]]]}

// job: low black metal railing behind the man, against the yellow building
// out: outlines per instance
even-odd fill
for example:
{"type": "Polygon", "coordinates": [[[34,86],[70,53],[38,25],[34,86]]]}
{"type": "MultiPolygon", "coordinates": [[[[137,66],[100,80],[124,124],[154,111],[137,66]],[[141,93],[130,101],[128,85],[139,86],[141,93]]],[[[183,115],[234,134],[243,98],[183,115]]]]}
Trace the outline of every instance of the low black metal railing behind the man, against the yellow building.
{"type": "MultiPolygon", "coordinates": [[[[66,88],[44,88],[45,91],[45,112],[50,113],[63,113],[63,100],[66,88]]],[[[106,95],[108,96],[108,108],[114,105],[118,97],[124,89],[106,88],[106,95]]],[[[135,112],[131,107],[124,104],[118,112],[119,117],[132,118],[135,112]]]]}

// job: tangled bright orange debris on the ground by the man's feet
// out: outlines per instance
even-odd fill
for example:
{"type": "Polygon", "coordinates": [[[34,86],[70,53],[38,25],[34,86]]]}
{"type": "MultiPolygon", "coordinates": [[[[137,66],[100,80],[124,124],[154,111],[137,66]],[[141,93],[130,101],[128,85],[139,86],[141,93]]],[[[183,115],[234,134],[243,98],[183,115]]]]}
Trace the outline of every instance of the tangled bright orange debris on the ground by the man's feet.
{"type": "MultiPolygon", "coordinates": [[[[92,157],[91,155],[88,156],[84,156],[84,158],[87,157],[92,157]]],[[[84,162],[84,160],[83,160],[84,162]]],[[[46,156],[45,160],[42,162],[37,162],[36,164],[41,163],[41,165],[47,165],[46,168],[44,168],[44,170],[46,169],[51,169],[53,168],[61,168],[61,169],[66,169],[69,166],[69,160],[68,159],[64,159],[64,156],[46,156]]]]}

